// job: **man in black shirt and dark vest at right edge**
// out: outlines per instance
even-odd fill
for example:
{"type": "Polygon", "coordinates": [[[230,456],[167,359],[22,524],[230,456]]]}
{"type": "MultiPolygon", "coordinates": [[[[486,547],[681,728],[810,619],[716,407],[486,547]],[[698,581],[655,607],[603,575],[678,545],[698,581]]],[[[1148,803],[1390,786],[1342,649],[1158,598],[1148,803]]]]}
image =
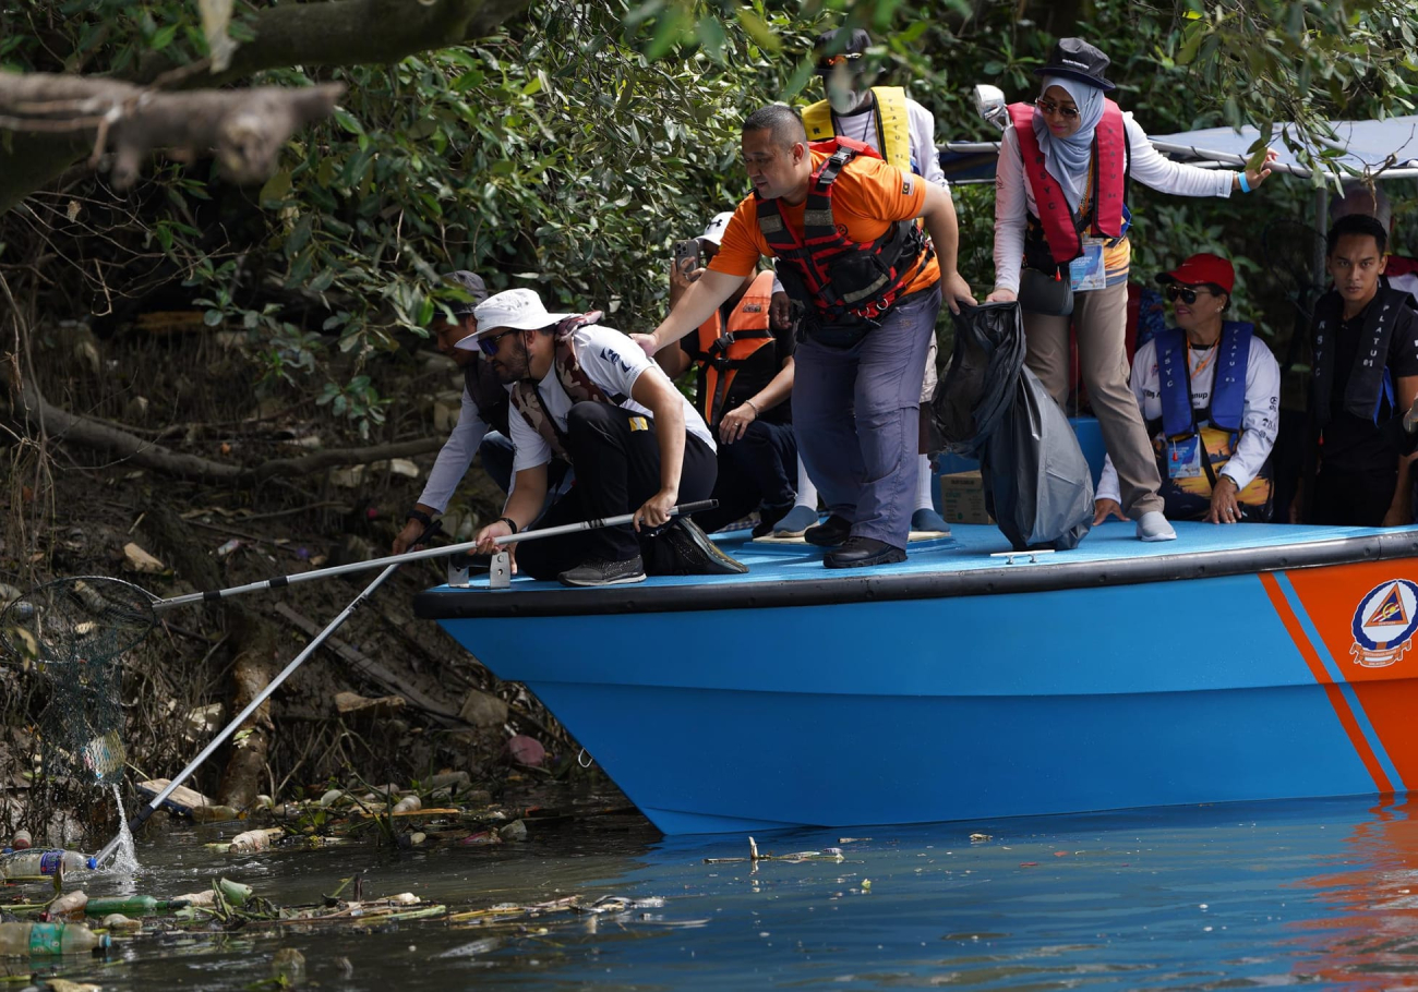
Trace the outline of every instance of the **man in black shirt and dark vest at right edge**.
{"type": "Polygon", "coordinates": [[[1292,520],[1397,527],[1412,523],[1404,411],[1418,398],[1418,316],[1380,285],[1388,234],[1373,217],[1329,231],[1334,289],[1314,308],[1309,449],[1292,520]]]}

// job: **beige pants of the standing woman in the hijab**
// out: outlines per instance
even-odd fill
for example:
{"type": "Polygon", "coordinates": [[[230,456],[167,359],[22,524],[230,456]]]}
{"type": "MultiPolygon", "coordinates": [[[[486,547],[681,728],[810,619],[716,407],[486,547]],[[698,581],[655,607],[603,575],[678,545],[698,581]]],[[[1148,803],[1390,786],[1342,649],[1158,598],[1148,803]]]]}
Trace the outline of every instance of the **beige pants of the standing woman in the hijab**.
{"type": "MultiPolygon", "coordinates": [[[[1073,325],[1078,327],[1078,360],[1088,398],[1103,431],[1123,513],[1133,520],[1151,510],[1161,512],[1157,489],[1157,459],[1137,398],[1127,385],[1127,283],[1073,293],[1073,325]]],[[[1025,364],[1062,407],[1069,391],[1069,317],[1024,312],[1024,337],[1029,344],[1025,364]]]]}

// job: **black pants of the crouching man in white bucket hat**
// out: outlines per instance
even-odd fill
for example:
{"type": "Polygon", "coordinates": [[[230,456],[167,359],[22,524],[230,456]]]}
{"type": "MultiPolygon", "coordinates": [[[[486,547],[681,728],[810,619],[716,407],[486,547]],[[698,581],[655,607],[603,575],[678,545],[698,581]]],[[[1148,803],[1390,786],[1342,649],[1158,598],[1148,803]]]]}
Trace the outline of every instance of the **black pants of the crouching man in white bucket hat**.
{"type": "MultiPolygon", "coordinates": [[[[542,516],[539,527],[634,513],[659,492],[659,442],[649,417],[607,402],[579,402],[566,417],[566,449],[576,483],[542,516]]],[[[713,449],[685,432],[679,502],[708,499],[716,475],[713,449]]],[[[674,568],[674,553],[630,524],[527,541],[518,548],[518,568],[532,578],[552,580],[590,558],[625,561],[637,554],[651,575],[674,568]]]]}

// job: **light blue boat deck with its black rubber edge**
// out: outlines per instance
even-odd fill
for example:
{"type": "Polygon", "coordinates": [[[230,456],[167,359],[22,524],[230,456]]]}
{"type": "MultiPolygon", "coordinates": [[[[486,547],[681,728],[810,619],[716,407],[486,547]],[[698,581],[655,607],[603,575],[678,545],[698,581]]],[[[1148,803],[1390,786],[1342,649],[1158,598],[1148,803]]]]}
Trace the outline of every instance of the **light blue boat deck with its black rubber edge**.
{"type": "Polygon", "coordinates": [[[912,541],[906,561],[865,570],[822,567],[810,544],[716,534],[725,551],[749,565],[744,575],[657,575],[642,584],[571,590],[513,578],[488,590],[441,585],[415,601],[431,619],[495,615],[577,615],[813,605],[862,599],[993,595],[1056,588],[1130,585],[1212,578],[1282,568],[1374,561],[1418,554],[1418,526],[1401,529],[1293,524],[1177,523],[1176,541],[1143,543],[1134,524],[1110,520],[1069,551],[1011,551],[994,526],[957,524],[951,537],[912,541]],[[1012,556],[1012,557],[1011,557],[1012,556]]]}

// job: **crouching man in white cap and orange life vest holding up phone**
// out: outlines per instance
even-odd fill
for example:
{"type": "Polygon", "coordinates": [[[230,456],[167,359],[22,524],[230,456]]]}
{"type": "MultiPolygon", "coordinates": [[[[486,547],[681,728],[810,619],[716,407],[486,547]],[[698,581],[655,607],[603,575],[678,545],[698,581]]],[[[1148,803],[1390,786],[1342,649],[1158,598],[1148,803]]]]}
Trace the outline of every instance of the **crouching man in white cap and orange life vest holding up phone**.
{"type": "MultiPolygon", "coordinates": [[[[699,262],[708,265],[733,213],[718,214],[699,235],[699,262]]],[[[705,272],[693,259],[669,269],[669,305],[705,272]],[[688,269],[688,271],[686,271],[688,269]]],[[[696,334],[679,339],[655,361],[671,378],[699,368],[696,410],[719,442],[719,480],[712,510],[695,514],[705,530],[719,530],[757,510],[756,537],[793,509],[797,444],[793,439],[793,320],[787,293],[773,272],[743,278],[696,334]],[[778,313],[774,313],[774,300],[778,313]]]]}

